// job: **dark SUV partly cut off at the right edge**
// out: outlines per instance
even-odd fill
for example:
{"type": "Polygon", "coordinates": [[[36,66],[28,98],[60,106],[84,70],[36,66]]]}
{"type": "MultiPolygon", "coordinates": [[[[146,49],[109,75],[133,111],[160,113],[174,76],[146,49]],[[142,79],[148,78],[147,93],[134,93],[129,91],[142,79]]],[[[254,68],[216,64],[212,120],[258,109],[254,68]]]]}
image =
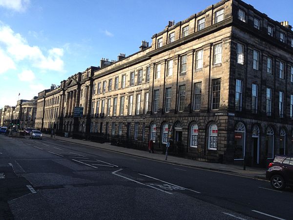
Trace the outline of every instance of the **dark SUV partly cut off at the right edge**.
{"type": "Polygon", "coordinates": [[[293,188],[293,155],[276,155],[269,164],[266,177],[274,189],[282,190],[286,186],[293,188]]]}

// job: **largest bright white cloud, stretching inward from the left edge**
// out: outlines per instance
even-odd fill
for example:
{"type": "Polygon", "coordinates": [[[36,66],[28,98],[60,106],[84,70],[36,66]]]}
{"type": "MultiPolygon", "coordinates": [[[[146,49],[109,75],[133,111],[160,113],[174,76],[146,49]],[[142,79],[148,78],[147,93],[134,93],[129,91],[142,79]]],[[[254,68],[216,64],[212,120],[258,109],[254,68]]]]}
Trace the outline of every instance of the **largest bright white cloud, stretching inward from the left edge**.
{"type": "Polygon", "coordinates": [[[19,33],[0,22],[0,43],[6,46],[7,53],[16,61],[28,59],[31,65],[41,69],[63,71],[63,49],[53,48],[45,56],[38,46],[30,46],[19,33]]]}

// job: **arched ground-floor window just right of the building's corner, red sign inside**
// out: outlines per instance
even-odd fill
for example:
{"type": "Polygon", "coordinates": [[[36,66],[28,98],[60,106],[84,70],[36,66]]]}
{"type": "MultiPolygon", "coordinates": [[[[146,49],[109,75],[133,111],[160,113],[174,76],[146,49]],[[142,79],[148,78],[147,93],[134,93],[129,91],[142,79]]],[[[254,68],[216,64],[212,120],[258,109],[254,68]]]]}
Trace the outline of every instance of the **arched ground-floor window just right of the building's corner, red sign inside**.
{"type": "Polygon", "coordinates": [[[245,126],[238,122],[234,133],[234,159],[244,159],[245,157],[245,126]]]}

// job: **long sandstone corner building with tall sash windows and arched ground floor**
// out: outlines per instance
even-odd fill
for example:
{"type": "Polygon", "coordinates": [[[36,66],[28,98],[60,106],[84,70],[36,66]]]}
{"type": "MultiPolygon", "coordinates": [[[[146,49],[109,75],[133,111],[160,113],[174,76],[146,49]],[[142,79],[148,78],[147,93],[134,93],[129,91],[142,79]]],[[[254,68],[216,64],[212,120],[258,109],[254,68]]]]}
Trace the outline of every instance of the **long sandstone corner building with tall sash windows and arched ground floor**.
{"type": "Polygon", "coordinates": [[[151,46],[143,41],[135,54],[102,59],[39,100],[59,96],[59,132],[152,139],[163,151],[172,123],[176,155],[264,166],[274,154],[293,153],[291,28],[241,0],[222,0],[169,22],[151,46]],[[74,107],[84,107],[83,117],[73,117],[74,107]]]}

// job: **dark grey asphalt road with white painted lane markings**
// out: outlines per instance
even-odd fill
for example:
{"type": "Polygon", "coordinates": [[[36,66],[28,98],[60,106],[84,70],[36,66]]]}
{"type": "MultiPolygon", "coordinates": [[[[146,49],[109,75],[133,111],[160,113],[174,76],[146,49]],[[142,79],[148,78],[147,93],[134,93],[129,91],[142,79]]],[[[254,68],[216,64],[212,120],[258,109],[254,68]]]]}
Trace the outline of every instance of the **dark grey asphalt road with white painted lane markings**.
{"type": "Polygon", "coordinates": [[[51,138],[0,135],[0,193],[0,219],[293,219],[289,188],[51,138]]]}

